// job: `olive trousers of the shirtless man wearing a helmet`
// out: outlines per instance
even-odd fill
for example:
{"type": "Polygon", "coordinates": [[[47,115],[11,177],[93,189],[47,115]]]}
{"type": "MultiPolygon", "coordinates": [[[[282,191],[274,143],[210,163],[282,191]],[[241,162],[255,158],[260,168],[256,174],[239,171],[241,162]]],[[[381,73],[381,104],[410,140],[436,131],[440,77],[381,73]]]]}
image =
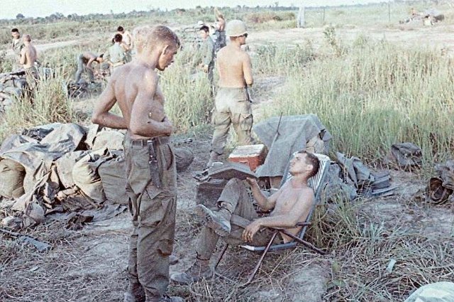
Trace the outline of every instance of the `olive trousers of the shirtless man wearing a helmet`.
{"type": "Polygon", "coordinates": [[[245,88],[219,87],[214,99],[214,134],[211,151],[218,155],[224,153],[228,129],[233,125],[238,144],[252,144],[253,112],[245,88]]]}

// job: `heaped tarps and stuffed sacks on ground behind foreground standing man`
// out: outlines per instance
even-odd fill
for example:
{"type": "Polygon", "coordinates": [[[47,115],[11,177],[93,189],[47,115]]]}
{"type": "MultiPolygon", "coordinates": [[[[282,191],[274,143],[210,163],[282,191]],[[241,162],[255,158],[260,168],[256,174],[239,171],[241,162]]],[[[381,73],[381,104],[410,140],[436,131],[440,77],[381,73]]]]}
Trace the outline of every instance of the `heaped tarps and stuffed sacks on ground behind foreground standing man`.
{"type": "MultiPolygon", "coordinates": [[[[2,223],[30,227],[52,214],[80,227],[123,212],[123,139],[123,131],[59,123],[9,136],[0,146],[0,205],[9,215],[2,223]]],[[[179,170],[193,159],[189,149],[176,149],[179,170]]]]}

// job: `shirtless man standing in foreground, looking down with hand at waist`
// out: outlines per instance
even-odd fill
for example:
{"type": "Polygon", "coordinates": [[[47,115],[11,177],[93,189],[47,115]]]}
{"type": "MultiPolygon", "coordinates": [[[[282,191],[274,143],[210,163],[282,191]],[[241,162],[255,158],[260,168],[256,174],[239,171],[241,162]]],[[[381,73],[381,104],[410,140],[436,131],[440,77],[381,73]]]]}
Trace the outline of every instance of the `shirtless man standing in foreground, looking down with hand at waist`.
{"type": "Polygon", "coordinates": [[[134,39],[137,56],[114,72],[96,104],[92,122],[128,129],[124,141],[126,192],[134,230],[124,301],[179,302],[184,300],[165,296],[177,187],[170,145],[173,126],[164,112],[164,96],[155,69],[165,70],[180,44],[177,35],[165,26],[137,28],[134,39]],[[122,117],[109,112],[116,102],[122,117]]]}

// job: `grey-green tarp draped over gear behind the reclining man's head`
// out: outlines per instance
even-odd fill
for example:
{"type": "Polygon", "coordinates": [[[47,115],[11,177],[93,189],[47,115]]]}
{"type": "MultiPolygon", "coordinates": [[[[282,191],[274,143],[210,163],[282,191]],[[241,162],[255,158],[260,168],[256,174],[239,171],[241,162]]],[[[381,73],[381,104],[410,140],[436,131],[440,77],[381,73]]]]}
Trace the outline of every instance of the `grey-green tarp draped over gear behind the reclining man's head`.
{"type": "Polygon", "coordinates": [[[265,163],[255,171],[258,177],[284,175],[285,168],[296,151],[308,147],[316,153],[327,154],[329,151],[331,134],[314,114],[272,117],[255,124],[253,131],[269,150],[265,163]]]}

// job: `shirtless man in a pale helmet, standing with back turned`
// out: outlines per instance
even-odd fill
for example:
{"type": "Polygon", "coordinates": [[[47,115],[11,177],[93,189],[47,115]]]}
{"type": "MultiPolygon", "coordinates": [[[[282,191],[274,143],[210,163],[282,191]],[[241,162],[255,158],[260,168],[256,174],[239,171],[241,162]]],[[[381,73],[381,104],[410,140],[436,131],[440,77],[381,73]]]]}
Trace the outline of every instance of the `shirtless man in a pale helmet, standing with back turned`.
{"type": "Polygon", "coordinates": [[[238,135],[238,144],[248,145],[253,141],[253,112],[248,94],[248,86],[253,85],[252,65],[248,53],[241,49],[248,30],[243,21],[232,20],[227,23],[227,34],[231,43],[219,50],[216,59],[219,87],[214,99],[214,134],[208,167],[224,153],[231,124],[238,135]]]}

